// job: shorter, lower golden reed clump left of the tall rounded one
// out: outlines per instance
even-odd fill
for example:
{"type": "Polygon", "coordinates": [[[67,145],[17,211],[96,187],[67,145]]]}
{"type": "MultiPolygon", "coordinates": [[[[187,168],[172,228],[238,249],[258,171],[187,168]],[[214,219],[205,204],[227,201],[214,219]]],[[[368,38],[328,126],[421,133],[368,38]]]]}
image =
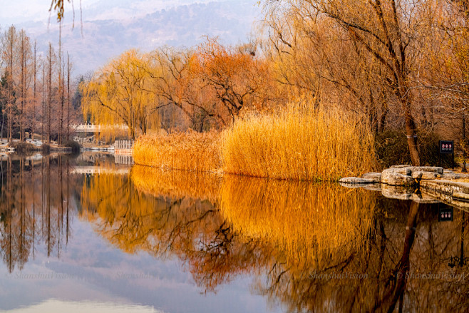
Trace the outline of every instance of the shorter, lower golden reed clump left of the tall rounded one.
{"type": "Polygon", "coordinates": [[[219,133],[143,135],[133,147],[136,164],[175,170],[213,171],[221,167],[219,133]]]}

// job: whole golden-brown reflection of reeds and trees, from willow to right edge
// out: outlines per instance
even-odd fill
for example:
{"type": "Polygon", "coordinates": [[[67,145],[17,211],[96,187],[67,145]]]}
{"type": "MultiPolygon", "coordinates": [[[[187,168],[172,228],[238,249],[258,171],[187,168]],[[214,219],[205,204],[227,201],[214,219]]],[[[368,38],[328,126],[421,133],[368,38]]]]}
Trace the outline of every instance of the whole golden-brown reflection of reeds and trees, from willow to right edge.
{"type": "Polygon", "coordinates": [[[467,215],[336,185],[134,167],[83,185],[83,216],[128,252],[178,257],[206,291],[254,274],[254,292],[289,312],[463,311],[450,277],[467,215]],[[422,274],[433,273],[430,279],[422,274]],[[446,277],[438,278],[437,274],[446,277]]]}

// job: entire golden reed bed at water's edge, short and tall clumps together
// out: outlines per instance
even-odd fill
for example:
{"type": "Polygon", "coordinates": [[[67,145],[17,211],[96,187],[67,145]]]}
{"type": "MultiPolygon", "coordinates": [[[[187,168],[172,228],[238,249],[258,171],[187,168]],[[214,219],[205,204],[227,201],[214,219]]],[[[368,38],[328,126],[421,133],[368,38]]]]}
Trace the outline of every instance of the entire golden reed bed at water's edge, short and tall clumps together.
{"type": "Polygon", "coordinates": [[[239,118],[222,133],[145,135],[135,163],[287,180],[331,180],[376,167],[373,135],[359,116],[304,103],[287,112],[239,118]]]}

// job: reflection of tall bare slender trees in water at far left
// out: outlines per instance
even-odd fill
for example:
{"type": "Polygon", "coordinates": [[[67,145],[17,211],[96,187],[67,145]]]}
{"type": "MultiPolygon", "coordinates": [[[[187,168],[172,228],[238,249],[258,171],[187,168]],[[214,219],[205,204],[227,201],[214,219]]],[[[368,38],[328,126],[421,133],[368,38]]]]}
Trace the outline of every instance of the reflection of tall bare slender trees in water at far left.
{"type": "Polygon", "coordinates": [[[11,157],[0,172],[0,254],[9,272],[23,269],[38,245],[60,257],[71,223],[68,160],[11,157]]]}

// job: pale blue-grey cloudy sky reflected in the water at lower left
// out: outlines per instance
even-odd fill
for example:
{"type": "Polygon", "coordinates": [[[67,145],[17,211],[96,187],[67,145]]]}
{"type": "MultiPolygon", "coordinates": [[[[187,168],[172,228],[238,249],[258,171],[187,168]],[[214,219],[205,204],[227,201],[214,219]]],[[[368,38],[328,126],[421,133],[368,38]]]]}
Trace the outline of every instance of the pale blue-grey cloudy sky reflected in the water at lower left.
{"type": "Polygon", "coordinates": [[[202,294],[178,260],[121,252],[76,216],[71,229],[59,259],[57,250],[47,258],[43,243],[36,243],[36,257],[31,255],[24,270],[9,274],[5,265],[0,266],[0,310],[73,312],[85,305],[81,312],[267,311],[267,298],[249,292],[252,277],[234,279],[216,294],[202,294]]]}

